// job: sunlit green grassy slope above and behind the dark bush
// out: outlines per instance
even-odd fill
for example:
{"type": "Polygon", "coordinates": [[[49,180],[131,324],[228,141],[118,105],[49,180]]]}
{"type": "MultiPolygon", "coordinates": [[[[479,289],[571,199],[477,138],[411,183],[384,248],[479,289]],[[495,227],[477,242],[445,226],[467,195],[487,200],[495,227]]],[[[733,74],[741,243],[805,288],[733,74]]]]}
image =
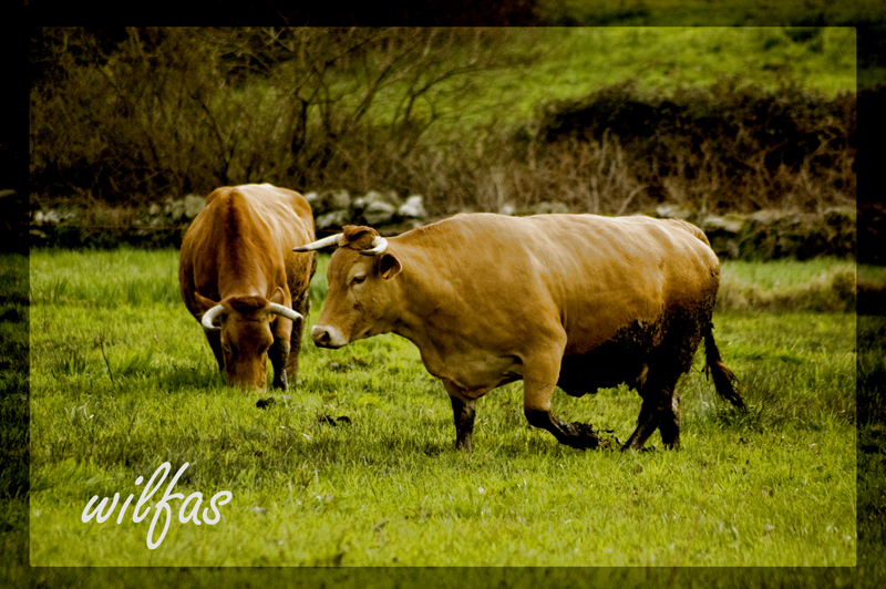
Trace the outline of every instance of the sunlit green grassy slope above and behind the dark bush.
{"type": "MultiPolygon", "coordinates": [[[[818,28],[807,37],[785,28],[729,25],[518,28],[498,34],[499,58],[512,66],[472,74],[467,91],[460,90],[464,80],[455,78],[415,104],[416,113],[430,116],[433,111],[441,118],[433,134],[474,141],[477,130],[522,124],[553,101],[581,99],[626,82],[663,96],[718,82],[784,92],[802,86],[828,96],[856,90],[852,27],[818,28]]],[[[360,95],[349,95],[351,81],[338,82],[341,87],[333,94],[356,105],[360,95]]],[[[272,92],[274,86],[257,87],[272,92]]],[[[402,106],[400,90],[394,85],[379,94],[373,106],[379,122],[390,121],[402,106]]]]}

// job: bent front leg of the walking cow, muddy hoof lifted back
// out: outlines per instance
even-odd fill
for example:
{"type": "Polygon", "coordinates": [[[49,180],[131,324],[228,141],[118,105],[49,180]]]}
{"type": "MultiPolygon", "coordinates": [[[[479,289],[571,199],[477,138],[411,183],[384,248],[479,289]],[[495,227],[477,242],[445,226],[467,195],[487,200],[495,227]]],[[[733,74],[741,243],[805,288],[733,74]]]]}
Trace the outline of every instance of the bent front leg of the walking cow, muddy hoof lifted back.
{"type": "Polygon", "coordinates": [[[523,412],[530,425],[550,432],[557,442],[574,448],[607,447],[594,427],[586,423],[570,423],[556,417],[550,412],[550,399],[559,376],[559,356],[524,364],[523,412]]]}

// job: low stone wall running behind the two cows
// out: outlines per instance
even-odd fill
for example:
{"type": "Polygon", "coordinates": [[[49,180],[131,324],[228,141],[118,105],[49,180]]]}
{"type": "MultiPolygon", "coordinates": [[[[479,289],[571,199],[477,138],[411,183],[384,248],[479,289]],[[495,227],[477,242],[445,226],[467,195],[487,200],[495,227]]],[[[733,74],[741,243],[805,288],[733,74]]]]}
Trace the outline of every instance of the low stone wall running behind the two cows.
{"type": "MultiPolygon", "coordinates": [[[[354,197],[346,190],[327,190],[307,193],[305,198],[313,209],[318,236],[330,235],[349,224],[369,225],[384,236],[394,236],[435,220],[427,215],[424,198],[418,194],[401,198],[393,193],[370,192],[354,197]]],[[[31,246],[178,247],[203,205],[203,197],[189,195],[143,210],[74,207],[39,210],[31,219],[31,246]]],[[[519,210],[505,205],[499,213],[524,216],[569,213],[569,209],[558,202],[543,202],[519,210]]],[[[882,242],[878,236],[886,235],[886,217],[874,215],[873,221],[864,224],[864,235],[856,239],[856,211],[852,208],[832,208],[820,215],[780,210],[699,215],[680,206],[662,205],[646,214],[694,223],[708,235],[721,259],[854,258],[858,240],[882,242]],[[868,235],[872,231],[874,235],[868,235]]]]}

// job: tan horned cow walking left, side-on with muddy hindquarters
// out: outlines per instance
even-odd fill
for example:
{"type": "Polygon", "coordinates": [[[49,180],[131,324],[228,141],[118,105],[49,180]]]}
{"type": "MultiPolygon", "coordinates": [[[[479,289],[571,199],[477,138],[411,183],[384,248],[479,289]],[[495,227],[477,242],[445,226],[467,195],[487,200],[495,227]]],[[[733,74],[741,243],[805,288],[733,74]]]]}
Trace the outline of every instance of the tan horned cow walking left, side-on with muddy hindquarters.
{"type": "Polygon", "coordinates": [[[390,240],[347,226],[296,250],[331,245],[315,343],[387,332],[412,341],[450,395],[456,447],[471,448],[476,400],[519,379],[526,418],[563,444],[608,442],[554,416],[554,389],[581,396],[624,382],[642,406],[622,450],[641,448],[656,428],[679,446],[674,385],[702,338],[718,393],[744,406],[713,341],[720,265],[689,223],[474,214],[390,240]]]}

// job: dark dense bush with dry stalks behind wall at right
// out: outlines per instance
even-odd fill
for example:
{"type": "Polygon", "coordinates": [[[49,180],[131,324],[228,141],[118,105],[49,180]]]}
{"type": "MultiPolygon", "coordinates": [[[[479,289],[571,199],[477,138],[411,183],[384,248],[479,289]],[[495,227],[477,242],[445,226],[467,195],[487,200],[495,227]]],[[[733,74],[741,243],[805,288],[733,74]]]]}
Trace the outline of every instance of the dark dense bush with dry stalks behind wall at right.
{"type": "Polygon", "coordinates": [[[710,210],[821,210],[855,200],[855,96],[723,82],[673,96],[630,84],[545,110],[539,154],[617,138],[652,202],[710,210]],[[692,193],[696,193],[694,195],[692,193]]]}

